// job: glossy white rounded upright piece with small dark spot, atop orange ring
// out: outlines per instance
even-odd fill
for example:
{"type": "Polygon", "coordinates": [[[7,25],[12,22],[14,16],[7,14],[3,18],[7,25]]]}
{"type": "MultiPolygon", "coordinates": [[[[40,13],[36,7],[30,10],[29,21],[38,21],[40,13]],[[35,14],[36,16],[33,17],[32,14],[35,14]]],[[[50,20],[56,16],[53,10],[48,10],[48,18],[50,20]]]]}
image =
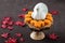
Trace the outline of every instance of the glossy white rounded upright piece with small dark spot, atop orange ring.
{"type": "Polygon", "coordinates": [[[48,6],[44,3],[40,2],[35,5],[31,17],[34,19],[44,19],[47,14],[48,14],[48,6]]]}

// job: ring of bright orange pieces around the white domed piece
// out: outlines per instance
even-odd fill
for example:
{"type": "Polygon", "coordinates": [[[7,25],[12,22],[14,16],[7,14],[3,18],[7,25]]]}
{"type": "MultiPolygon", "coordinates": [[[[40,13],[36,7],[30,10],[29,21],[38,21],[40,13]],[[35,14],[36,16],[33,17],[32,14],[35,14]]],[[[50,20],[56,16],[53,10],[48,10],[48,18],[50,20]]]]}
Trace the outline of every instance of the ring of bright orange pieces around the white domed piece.
{"type": "Polygon", "coordinates": [[[25,24],[29,26],[29,28],[41,30],[43,28],[50,27],[53,24],[53,17],[52,14],[48,13],[46,16],[46,19],[34,19],[31,17],[31,11],[28,12],[28,14],[25,15],[25,24]]]}

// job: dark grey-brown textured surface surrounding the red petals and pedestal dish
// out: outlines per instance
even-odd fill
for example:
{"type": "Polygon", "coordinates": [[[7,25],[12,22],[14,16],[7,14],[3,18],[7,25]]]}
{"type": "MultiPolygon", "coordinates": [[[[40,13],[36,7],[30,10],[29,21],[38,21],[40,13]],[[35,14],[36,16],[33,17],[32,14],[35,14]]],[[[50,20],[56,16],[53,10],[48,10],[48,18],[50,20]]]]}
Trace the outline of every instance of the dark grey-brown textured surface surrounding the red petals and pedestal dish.
{"type": "MultiPolygon", "coordinates": [[[[0,28],[0,33],[10,32],[13,37],[15,32],[22,32],[26,39],[25,43],[65,43],[65,0],[0,0],[0,22],[4,16],[11,16],[13,20],[22,20],[17,17],[18,14],[25,13],[22,9],[27,8],[32,11],[34,5],[38,2],[48,4],[49,11],[56,10],[60,12],[58,15],[53,15],[54,25],[51,29],[44,30],[47,35],[52,32],[58,34],[58,40],[51,41],[46,38],[42,41],[34,41],[29,38],[31,31],[28,27],[14,26],[12,31],[0,28]]],[[[0,43],[4,43],[3,41],[4,39],[1,38],[0,43]]]]}

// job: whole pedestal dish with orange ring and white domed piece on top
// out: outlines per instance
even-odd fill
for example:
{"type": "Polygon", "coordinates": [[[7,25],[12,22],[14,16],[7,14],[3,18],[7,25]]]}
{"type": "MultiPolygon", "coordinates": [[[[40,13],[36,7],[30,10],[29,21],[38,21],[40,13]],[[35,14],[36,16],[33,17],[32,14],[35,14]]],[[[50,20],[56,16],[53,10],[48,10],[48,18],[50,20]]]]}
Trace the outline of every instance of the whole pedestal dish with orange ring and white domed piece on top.
{"type": "Polygon", "coordinates": [[[46,35],[40,30],[44,30],[48,27],[50,28],[52,23],[52,14],[48,12],[48,6],[42,2],[36,4],[34,11],[29,11],[28,14],[25,15],[25,24],[32,30],[30,33],[32,40],[44,39],[46,35]]]}

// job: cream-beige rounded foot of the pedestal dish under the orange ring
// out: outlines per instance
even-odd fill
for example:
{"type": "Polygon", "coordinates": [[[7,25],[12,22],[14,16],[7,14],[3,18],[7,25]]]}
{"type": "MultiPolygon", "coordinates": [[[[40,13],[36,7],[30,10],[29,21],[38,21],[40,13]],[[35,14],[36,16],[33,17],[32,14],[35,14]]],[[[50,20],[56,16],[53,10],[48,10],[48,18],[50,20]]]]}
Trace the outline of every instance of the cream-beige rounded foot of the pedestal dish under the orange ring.
{"type": "Polygon", "coordinates": [[[44,33],[43,33],[42,31],[39,31],[39,32],[32,31],[32,32],[30,33],[30,38],[31,38],[32,40],[43,40],[43,39],[44,39],[44,33]]]}

